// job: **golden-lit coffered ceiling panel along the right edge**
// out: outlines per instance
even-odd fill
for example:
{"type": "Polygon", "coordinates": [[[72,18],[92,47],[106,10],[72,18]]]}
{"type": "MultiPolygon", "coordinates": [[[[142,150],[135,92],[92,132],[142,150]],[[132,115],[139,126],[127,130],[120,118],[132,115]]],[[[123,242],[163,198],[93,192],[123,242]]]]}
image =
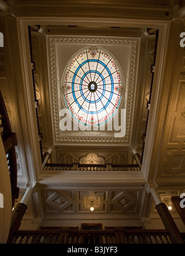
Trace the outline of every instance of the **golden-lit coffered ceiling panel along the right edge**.
{"type": "Polygon", "coordinates": [[[162,154],[158,165],[158,181],[168,178],[183,182],[185,177],[184,54],[184,49],[179,48],[167,114],[167,125],[163,137],[162,154]]]}

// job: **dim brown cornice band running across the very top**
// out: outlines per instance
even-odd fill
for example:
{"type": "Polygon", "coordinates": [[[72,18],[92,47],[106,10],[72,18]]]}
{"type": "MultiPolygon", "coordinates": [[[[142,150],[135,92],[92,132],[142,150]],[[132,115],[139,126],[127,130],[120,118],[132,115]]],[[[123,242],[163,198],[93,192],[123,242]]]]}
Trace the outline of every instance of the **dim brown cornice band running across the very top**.
{"type": "Polygon", "coordinates": [[[15,2],[15,16],[109,17],[112,19],[165,19],[173,17],[170,0],[70,0],[15,2]]]}

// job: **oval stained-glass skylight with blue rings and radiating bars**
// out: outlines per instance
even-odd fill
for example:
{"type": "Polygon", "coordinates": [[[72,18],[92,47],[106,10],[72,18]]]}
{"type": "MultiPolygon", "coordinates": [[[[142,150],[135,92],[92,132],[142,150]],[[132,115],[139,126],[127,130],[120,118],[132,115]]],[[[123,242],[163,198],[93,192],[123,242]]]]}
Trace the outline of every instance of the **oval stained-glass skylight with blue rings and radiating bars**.
{"type": "Polygon", "coordinates": [[[83,49],[68,62],[62,82],[64,101],[73,118],[84,126],[101,126],[121,102],[117,62],[103,49],[83,49]]]}

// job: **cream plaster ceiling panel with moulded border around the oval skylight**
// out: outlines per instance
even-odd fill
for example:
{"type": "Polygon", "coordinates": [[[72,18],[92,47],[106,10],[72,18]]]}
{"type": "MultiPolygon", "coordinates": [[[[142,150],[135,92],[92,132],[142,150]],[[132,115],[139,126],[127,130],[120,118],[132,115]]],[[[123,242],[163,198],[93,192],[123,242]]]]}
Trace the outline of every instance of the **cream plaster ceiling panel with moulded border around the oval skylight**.
{"type": "MultiPolygon", "coordinates": [[[[112,142],[124,142],[129,143],[130,133],[132,126],[132,113],[134,92],[136,90],[136,75],[138,65],[138,47],[139,39],[137,38],[92,38],[87,36],[47,36],[47,54],[49,59],[49,82],[51,93],[51,109],[52,109],[52,127],[53,137],[55,143],[63,142],[95,142],[95,143],[112,143],[112,142]],[[126,98],[128,98],[128,104],[126,107],[126,135],[123,138],[115,138],[112,131],[65,131],[62,132],[59,128],[59,112],[61,108],[65,108],[62,105],[60,98],[60,80],[64,71],[65,64],[72,55],[72,48],[81,49],[84,46],[99,45],[104,48],[108,48],[109,51],[117,48],[117,59],[120,62],[123,69],[123,75],[125,77],[125,83],[127,85],[126,98]],[[126,47],[125,47],[126,46],[126,47]],[[125,48],[124,48],[125,47],[125,48]],[[64,53],[67,51],[67,53],[64,53]],[[119,53],[120,52],[120,57],[119,53]],[[128,54],[129,53],[129,54],[128,54]],[[64,56],[64,58],[61,58],[64,56]],[[128,56],[127,64],[124,64],[124,54],[128,56]],[[119,59],[120,58],[120,59],[119,59]],[[121,60],[122,58],[122,60],[121,60]],[[62,60],[61,60],[62,59],[62,60]]],[[[73,51],[76,51],[73,49],[73,51]]],[[[75,53],[75,52],[74,52],[75,53]]],[[[114,54],[114,53],[113,53],[114,54]]]]}

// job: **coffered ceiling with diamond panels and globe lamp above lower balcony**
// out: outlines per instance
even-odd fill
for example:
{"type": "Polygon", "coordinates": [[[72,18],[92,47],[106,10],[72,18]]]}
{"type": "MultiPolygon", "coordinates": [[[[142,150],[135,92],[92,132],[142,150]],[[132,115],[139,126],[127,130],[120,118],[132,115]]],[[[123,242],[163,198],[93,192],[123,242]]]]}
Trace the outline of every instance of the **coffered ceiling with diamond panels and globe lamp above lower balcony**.
{"type": "Polygon", "coordinates": [[[44,216],[139,215],[144,190],[39,190],[44,216]],[[90,207],[94,211],[90,211],[90,207]]]}

